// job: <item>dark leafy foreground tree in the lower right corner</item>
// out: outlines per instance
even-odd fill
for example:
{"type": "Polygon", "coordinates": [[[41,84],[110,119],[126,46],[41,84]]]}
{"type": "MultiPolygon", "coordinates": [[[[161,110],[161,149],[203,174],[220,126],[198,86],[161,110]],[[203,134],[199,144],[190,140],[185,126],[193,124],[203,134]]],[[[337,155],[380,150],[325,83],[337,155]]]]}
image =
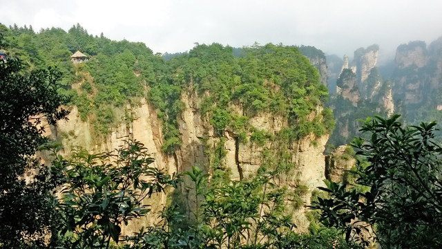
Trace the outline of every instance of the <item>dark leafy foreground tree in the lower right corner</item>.
{"type": "Polygon", "coordinates": [[[383,248],[441,248],[442,147],[434,138],[436,123],[403,127],[398,118],[368,118],[361,131],[369,139],[352,144],[359,156],[356,184],[368,191],[329,183],[323,190],[331,198],[318,199],[314,208],[329,226],[345,230],[347,239],[361,232],[354,221],[365,221],[383,248]]]}

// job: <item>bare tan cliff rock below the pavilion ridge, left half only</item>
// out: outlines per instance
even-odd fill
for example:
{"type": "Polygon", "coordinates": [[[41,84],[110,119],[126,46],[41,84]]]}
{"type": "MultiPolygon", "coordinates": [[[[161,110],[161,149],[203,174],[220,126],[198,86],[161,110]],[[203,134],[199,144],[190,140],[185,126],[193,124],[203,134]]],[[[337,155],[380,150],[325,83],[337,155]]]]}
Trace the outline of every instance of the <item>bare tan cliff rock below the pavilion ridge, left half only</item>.
{"type": "MultiPolygon", "coordinates": [[[[179,171],[173,156],[162,152],[162,123],[157,118],[155,109],[146,100],[141,100],[140,105],[132,107],[135,119],[132,122],[121,122],[117,127],[110,130],[106,138],[94,136],[93,126],[89,122],[82,121],[78,115],[77,107],[70,107],[68,120],[59,120],[55,127],[47,129],[46,136],[61,140],[64,149],[61,154],[67,156],[68,151],[75,147],[87,149],[89,153],[101,153],[114,151],[124,145],[127,138],[135,138],[144,143],[151,156],[155,158],[153,167],[166,169],[169,174],[179,171]]],[[[153,225],[157,221],[155,215],[166,204],[167,196],[156,194],[151,199],[145,199],[145,205],[151,205],[151,214],[129,223],[124,231],[137,232],[142,226],[153,225]]]]}

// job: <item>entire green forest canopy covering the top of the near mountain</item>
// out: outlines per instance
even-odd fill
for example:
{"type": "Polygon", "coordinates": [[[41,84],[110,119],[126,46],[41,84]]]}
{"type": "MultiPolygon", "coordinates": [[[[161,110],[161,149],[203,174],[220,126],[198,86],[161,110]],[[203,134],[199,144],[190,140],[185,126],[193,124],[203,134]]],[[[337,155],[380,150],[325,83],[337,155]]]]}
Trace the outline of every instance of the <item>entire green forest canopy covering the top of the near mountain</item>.
{"type": "MultiPolygon", "coordinates": [[[[240,57],[235,57],[238,51],[229,46],[197,44],[189,53],[165,61],[144,44],[93,37],[79,24],[67,33],[59,28],[34,33],[18,27],[3,27],[1,32],[15,44],[8,53],[23,54],[31,67],[60,65],[64,75],[60,91],[73,97],[70,104],[77,105],[81,120],[94,124],[96,138],[104,138],[125,118],[117,109],[135,107],[140,98],[147,98],[164,122],[162,150],[173,153],[181,145],[178,123],[184,109],[183,90],[191,94],[194,90],[202,98],[200,111],[209,117],[218,136],[231,128],[238,134],[249,133],[244,122],[261,112],[289,118],[291,129],[300,131],[298,138],[311,132],[322,136],[332,127],[325,127],[321,118],[307,120],[311,113],[320,116],[316,106],[327,99],[327,89],[296,47],[256,44],[242,48],[237,53],[240,57]],[[88,62],[70,62],[76,50],[86,53],[88,62]],[[236,120],[233,104],[243,107],[243,119],[236,120]]],[[[301,49],[322,53],[307,46],[301,49]]]]}

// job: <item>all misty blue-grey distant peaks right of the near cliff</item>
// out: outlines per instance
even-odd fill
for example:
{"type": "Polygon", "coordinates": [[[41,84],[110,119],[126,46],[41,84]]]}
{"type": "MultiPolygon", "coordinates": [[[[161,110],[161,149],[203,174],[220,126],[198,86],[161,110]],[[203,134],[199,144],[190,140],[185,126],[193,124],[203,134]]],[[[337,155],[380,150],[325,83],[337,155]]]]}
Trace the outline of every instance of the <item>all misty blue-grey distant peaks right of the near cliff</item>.
{"type": "Polygon", "coordinates": [[[378,62],[377,45],[358,48],[352,57],[327,55],[327,87],[336,129],[330,144],[343,145],[358,134],[358,119],[392,113],[403,122],[442,122],[442,38],[398,44],[394,58],[378,62]]]}

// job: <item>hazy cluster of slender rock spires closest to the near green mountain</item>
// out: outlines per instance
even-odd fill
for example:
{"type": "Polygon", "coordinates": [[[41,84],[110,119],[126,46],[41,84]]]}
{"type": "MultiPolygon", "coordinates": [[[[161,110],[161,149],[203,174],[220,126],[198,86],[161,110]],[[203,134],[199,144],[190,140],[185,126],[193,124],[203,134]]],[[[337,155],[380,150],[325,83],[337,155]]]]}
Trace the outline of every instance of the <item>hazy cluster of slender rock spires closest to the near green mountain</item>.
{"type": "Polygon", "coordinates": [[[392,85],[383,80],[376,67],[378,46],[358,48],[351,64],[344,57],[340,76],[336,82],[338,96],[331,98],[336,129],[331,143],[343,145],[350,142],[358,132],[355,120],[367,116],[394,113],[392,85]]]}

